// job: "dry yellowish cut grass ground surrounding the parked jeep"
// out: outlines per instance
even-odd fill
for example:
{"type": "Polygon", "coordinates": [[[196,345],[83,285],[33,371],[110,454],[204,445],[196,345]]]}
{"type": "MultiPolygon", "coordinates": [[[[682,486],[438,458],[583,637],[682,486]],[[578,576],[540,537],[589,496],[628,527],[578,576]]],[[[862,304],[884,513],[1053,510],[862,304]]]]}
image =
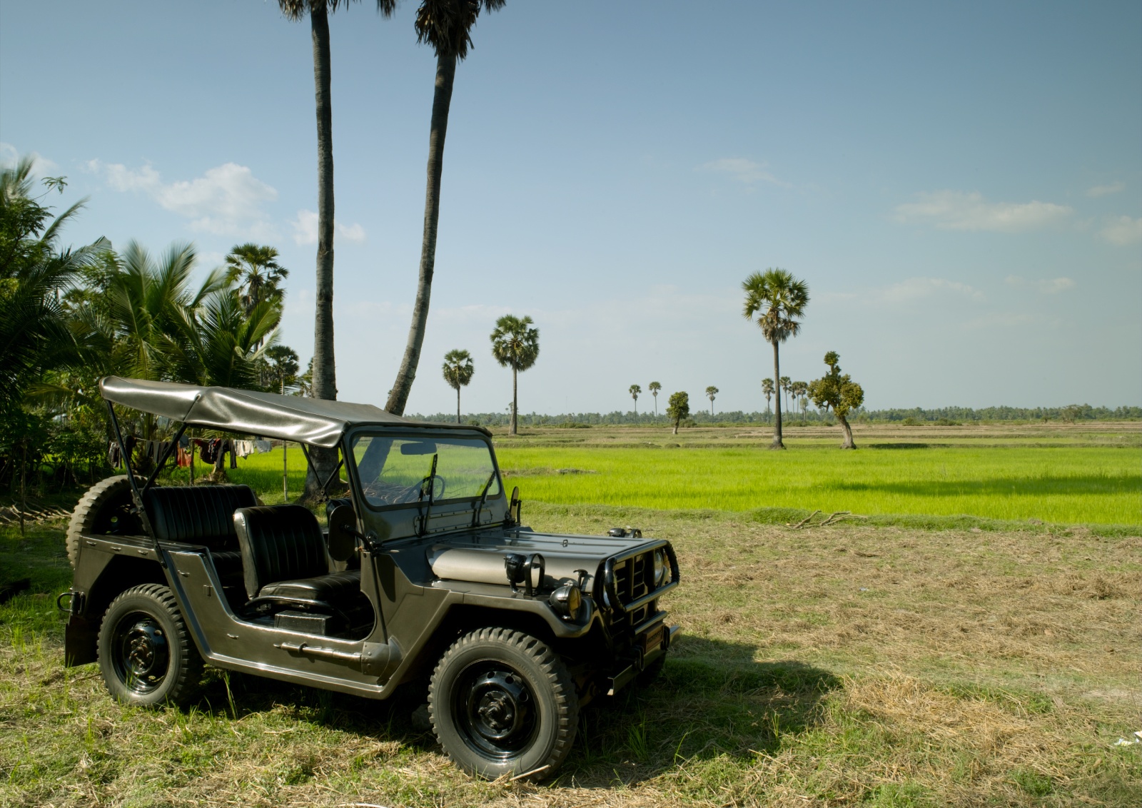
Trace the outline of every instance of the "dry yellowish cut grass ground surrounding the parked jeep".
{"type": "Polygon", "coordinates": [[[3,806],[1139,806],[1142,538],[793,530],[749,514],[526,504],[537,528],[669,538],[683,639],[585,711],[562,774],[459,774],[392,703],[212,672],[190,711],[62,668],[62,533],[3,534],[3,806]]]}

